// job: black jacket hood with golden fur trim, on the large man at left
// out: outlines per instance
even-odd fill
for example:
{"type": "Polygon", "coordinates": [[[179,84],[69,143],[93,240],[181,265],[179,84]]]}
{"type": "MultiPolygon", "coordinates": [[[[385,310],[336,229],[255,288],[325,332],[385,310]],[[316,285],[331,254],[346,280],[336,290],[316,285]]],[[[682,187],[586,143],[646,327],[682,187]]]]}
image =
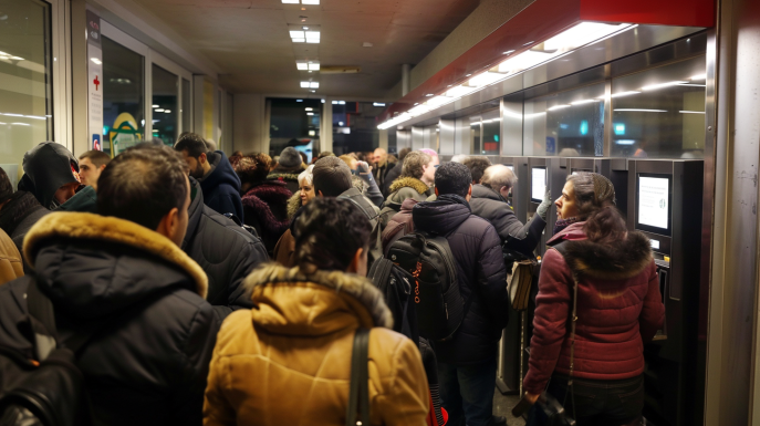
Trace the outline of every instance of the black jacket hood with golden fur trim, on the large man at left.
{"type": "Polygon", "coordinates": [[[27,263],[73,315],[96,318],[168,288],[208,292],[204,270],[168,238],[135,222],[51,212],[27,233],[27,263]]]}

